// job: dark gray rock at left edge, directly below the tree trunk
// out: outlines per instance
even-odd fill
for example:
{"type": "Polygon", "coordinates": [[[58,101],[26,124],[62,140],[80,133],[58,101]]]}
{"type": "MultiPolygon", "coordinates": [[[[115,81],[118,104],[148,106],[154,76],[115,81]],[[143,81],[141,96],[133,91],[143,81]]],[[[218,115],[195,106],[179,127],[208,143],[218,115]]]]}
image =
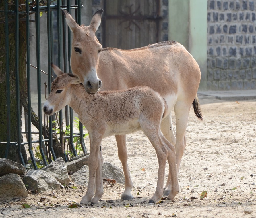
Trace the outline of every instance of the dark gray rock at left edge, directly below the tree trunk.
{"type": "Polygon", "coordinates": [[[14,162],[9,159],[0,158],[0,176],[16,173],[18,175],[23,175],[26,171],[26,167],[23,165],[14,162]]]}

